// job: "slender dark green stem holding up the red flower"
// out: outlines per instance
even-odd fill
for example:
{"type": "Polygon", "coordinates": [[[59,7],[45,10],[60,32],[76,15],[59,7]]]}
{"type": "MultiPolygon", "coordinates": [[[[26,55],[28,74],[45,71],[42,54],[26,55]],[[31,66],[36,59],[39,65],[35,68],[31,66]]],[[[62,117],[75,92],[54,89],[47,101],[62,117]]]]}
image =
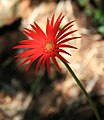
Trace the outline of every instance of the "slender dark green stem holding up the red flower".
{"type": "MultiPolygon", "coordinates": [[[[63,61],[62,61],[63,62],[63,61]]],[[[67,69],[69,70],[69,72],[71,73],[71,75],[73,76],[73,78],[75,79],[75,81],[77,82],[77,84],[79,85],[79,87],[81,88],[81,90],[83,91],[83,93],[85,94],[85,96],[88,99],[89,104],[91,105],[97,120],[101,120],[100,115],[96,109],[95,104],[93,103],[91,97],[89,96],[89,94],[86,92],[85,88],[83,87],[82,83],[80,82],[80,80],[77,78],[77,76],[75,75],[75,73],[73,72],[73,70],[71,69],[71,67],[66,63],[63,62],[65,64],[65,66],[67,67],[67,69]]]]}

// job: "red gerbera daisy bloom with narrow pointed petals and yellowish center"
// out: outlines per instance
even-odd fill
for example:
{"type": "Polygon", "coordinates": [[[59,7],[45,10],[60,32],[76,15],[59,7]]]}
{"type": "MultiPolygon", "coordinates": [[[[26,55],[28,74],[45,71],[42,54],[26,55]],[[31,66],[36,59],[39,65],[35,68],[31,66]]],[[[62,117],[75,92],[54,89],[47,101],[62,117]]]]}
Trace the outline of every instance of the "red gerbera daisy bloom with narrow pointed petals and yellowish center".
{"type": "Polygon", "coordinates": [[[68,35],[77,31],[68,31],[73,26],[74,21],[67,23],[61,30],[59,30],[60,24],[64,17],[65,16],[60,13],[56,21],[54,20],[54,14],[52,15],[51,19],[47,19],[46,34],[35,22],[34,25],[31,25],[34,31],[28,28],[24,28],[24,33],[32,39],[21,40],[20,44],[14,46],[13,48],[25,49],[22,53],[19,53],[15,57],[17,58],[17,61],[20,59],[24,59],[21,62],[20,66],[28,62],[26,71],[37,59],[38,61],[36,64],[36,72],[38,71],[40,64],[42,65],[42,72],[44,72],[44,65],[46,64],[48,74],[50,74],[50,58],[52,58],[52,61],[56,65],[58,70],[60,70],[60,67],[56,61],[56,57],[64,62],[68,62],[62,55],[60,55],[60,53],[65,53],[68,55],[70,55],[70,53],[66,52],[62,48],[76,49],[76,47],[65,43],[80,37],[67,37],[68,35]]]}

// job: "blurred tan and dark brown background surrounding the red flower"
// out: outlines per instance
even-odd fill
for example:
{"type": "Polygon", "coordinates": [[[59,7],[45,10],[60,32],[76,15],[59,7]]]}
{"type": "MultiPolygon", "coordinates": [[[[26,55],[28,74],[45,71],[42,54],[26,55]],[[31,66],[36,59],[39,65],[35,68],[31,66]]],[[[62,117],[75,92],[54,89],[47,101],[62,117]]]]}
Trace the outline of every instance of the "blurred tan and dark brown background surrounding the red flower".
{"type": "MultiPolygon", "coordinates": [[[[23,28],[37,22],[45,32],[47,17],[66,14],[61,27],[76,20],[71,43],[78,50],[64,56],[93,99],[104,120],[104,1],[103,0],[0,0],[0,120],[96,120],[87,99],[64,65],[61,73],[51,63],[51,75],[18,67],[13,50],[29,39],[23,28]]],[[[30,28],[31,29],[31,28],[30,28]]]]}

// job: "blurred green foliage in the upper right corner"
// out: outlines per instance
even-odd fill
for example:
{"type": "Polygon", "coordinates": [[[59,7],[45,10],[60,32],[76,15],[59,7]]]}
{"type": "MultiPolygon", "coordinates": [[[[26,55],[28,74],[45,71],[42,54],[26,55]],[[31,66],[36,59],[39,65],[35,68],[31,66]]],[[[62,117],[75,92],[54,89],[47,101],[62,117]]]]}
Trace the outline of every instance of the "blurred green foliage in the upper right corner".
{"type": "Polygon", "coordinates": [[[92,7],[90,0],[77,0],[80,7],[84,8],[84,12],[87,16],[91,16],[98,32],[104,35],[104,11],[100,8],[92,7]],[[90,6],[87,6],[87,4],[90,6]]]}

